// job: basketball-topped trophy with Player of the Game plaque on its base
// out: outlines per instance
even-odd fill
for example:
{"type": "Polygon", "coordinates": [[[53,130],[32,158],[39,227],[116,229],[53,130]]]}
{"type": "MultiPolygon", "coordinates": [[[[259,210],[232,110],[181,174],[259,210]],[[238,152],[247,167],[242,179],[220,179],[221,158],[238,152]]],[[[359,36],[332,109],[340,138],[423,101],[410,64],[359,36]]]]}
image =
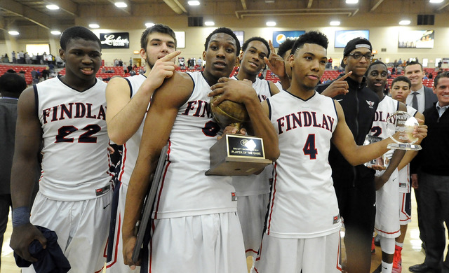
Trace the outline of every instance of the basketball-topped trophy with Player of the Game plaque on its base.
{"type": "MultiPolygon", "coordinates": [[[[239,131],[241,124],[249,121],[243,104],[225,100],[212,106],[215,99],[210,99],[210,110],[222,128],[232,125],[239,131]]],[[[206,175],[248,176],[272,163],[272,160],[265,158],[263,139],[260,137],[226,134],[209,151],[210,169],[206,175]]]]}

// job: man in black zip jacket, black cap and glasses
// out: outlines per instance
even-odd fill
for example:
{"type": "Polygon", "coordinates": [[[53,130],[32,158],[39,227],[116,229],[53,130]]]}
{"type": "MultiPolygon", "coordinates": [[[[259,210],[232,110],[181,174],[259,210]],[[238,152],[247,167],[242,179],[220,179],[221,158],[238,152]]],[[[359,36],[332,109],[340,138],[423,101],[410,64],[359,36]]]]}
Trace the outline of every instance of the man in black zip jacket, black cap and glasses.
{"type": "MultiPolygon", "coordinates": [[[[366,87],[364,77],[373,59],[372,51],[373,47],[366,38],[354,38],[349,41],[344,48],[342,60],[346,75],[340,75],[340,80],[333,82],[335,87],[335,83],[339,83],[338,87],[333,88],[333,83],[316,87],[317,92],[340,102],[347,125],[358,145],[363,145],[366,135],[370,132],[379,103],[375,92],[366,87]],[[344,82],[347,85],[342,85],[344,82]]],[[[351,166],[333,144],[330,147],[329,162],[345,227],[345,269],[349,273],[368,273],[376,211],[375,171],[363,165],[351,166]]]]}

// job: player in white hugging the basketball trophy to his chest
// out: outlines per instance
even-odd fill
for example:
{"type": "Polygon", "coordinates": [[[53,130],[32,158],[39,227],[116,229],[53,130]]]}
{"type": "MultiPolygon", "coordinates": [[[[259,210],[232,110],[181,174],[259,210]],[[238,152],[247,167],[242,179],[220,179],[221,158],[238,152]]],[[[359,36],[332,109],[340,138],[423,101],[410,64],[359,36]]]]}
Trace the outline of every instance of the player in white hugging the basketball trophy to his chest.
{"type": "MultiPolygon", "coordinates": [[[[135,223],[156,168],[161,148],[169,145],[152,217],[149,256],[141,267],[150,272],[247,272],[243,237],[236,216],[235,190],[229,176],[205,176],[209,148],[220,127],[208,108],[210,85],[232,72],[240,45],[234,32],[215,29],[206,38],[203,72],[175,72],[153,94],[140,143],[138,160],[126,195],[123,219],[123,260],[131,268],[135,223]]],[[[279,155],[274,128],[250,84],[239,84],[255,135],[264,139],[267,158],[279,155]]],[[[238,100],[237,100],[238,99],[238,100]]]]}

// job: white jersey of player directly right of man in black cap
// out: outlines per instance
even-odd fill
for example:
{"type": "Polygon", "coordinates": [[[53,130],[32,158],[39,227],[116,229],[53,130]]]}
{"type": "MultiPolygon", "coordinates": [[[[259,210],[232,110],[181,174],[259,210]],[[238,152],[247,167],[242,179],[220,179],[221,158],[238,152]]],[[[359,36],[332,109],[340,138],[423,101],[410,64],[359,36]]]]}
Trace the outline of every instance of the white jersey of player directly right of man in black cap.
{"type": "MultiPolygon", "coordinates": [[[[387,139],[389,135],[387,134],[387,119],[391,114],[398,111],[399,102],[392,99],[389,96],[384,96],[384,99],[379,102],[377,106],[376,113],[374,115],[373,126],[371,127],[371,136],[380,137],[382,139],[387,139]]],[[[394,150],[390,150],[385,155],[387,158],[391,159],[394,150]]]]}

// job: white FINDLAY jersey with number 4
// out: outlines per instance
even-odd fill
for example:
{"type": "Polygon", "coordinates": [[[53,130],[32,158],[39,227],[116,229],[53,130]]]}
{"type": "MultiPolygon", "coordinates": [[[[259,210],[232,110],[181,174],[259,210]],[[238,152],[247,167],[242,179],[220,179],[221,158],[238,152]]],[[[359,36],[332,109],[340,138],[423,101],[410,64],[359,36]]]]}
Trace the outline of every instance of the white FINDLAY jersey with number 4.
{"type": "Polygon", "coordinates": [[[267,102],[281,155],[274,163],[265,232],[280,238],[337,232],[341,221],[328,162],[338,122],[333,99],[315,92],[304,101],[280,92],[267,102]]]}

